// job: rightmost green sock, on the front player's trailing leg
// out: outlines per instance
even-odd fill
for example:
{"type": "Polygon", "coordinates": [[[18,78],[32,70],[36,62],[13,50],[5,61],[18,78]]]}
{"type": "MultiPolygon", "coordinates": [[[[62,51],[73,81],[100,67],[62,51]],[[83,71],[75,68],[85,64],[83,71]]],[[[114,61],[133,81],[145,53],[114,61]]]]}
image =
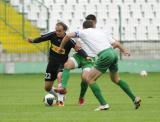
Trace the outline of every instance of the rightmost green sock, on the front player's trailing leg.
{"type": "Polygon", "coordinates": [[[131,89],[129,88],[128,84],[125,81],[120,80],[118,82],[118,85],[123,89],[123,91],[132,99],[132,101],[135,100],[135,96],[132,93],[131,89]]]}

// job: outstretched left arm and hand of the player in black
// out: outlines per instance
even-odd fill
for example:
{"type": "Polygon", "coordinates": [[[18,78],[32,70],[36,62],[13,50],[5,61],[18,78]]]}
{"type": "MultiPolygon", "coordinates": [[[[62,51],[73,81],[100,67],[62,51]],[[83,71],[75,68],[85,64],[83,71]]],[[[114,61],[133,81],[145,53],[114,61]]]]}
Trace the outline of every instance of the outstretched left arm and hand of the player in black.
{"type": "Polygon", "coordinates": [[[40,36],[40,37],[38,37],[38,38],[35,38],[35,39],[28,38],[28,42],[30,42],[30,43],[40,43],[40,42],[44,42],[44,41],[50,40],[52,34],[53,34],[53,32],[47,33],[47,34],[42,35],[42,36],[40,36]]]}

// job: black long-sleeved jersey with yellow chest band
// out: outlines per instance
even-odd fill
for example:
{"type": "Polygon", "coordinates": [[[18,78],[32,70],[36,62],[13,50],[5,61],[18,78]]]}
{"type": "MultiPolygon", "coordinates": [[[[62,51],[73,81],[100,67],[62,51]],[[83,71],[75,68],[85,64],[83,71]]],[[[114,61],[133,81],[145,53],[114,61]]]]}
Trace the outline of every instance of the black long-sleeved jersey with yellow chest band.
{"type": "Polygon", "coordinates": [[[74,40],[70,39],[64,46],[65,52],[60,54],[58,52],[63,37],[58,37],[55,32],[47,33],[33,40],[33,43],[39,43],[50,40],[51,46],[49,51],[49,59],[52,59],[58,63],[65,63],[68,59],[68,54],[71,48],[75,47],[74,40]]]}

